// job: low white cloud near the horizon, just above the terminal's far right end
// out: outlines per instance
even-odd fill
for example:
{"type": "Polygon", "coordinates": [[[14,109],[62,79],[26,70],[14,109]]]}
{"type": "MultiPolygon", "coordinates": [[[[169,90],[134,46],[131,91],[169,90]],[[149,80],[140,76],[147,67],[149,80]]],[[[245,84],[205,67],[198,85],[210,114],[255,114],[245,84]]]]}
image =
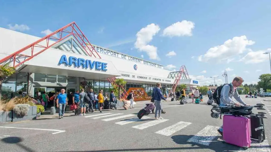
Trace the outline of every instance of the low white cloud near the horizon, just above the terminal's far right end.
{"type": "MultiPolygon", "coordinates": [[[[194,75],[189,75],[190,78],[198,80],[200,85],[214,85],[214,78],[210,78],[210,77],[204,77],[204,75],[198,75],[198,76],[194,76],[194,75]]],[[[215,77],[215,76],[214,76],[215,77]]],[[[225,82],[223,80],[221,80],[220,78],[215,78],[215,84],[220,85],[220,84],[224,84],[225,82]]]]}

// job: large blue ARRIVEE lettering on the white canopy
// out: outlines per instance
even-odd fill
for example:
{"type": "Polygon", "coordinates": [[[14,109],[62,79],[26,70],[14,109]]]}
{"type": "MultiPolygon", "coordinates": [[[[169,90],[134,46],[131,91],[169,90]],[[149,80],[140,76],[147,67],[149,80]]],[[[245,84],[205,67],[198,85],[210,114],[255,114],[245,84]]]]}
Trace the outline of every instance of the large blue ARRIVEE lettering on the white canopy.
{"type": "Polygon", "coordinates": [[[69,58],[66,57],[66,55],[62,55],[58,64],[64,64],[67,66],[74,65],[75,67],[82,67],[84,69],[95,69],[95,70],[102,70],[107,71],[107,63],[99,62],[99,61],[91,61],[91,60],[85,60],[83,58],[76,58],[70,56],[69,58]]]}

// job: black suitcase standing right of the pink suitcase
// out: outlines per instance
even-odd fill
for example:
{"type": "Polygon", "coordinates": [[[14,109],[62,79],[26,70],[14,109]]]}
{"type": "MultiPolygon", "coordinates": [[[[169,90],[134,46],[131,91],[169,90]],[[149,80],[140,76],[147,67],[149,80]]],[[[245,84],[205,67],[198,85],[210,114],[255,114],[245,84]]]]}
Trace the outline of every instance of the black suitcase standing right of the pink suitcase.
{"type": "Polygon", "coordinates": [[[250,115],[250,126],[251,126],[251,138],[256,139],[259,143],[265,140],[265,131],[263,118],[257,117],[256,115],[250,115]]]}

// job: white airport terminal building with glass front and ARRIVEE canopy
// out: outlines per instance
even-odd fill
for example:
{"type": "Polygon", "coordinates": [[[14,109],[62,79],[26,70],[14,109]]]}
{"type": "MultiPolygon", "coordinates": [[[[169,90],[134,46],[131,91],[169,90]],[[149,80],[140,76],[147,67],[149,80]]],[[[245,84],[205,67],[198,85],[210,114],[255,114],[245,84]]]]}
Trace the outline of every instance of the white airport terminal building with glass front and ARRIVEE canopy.
{"type": "MultiPolygon", "coordinates": [[[[0,28],[0,59],[9,57],[39,39],[41,38],[0,28]]],[[[53,41],[47,41],[47,43],[50,45],[53,44],[53,41]]],[[[94,92],[103,89],[105,94],[109,95],[109,90],[112,88],[107,80],[109,77],[123,78],[127,82],[124,88],[128,93],[129,90],[138,90],[151,95],[157,82],[162,84],[164,93],[167,92],[166,90],[170,90],[178,74],[165,70],[163,65],[154,62],[98,45],[92,46],[100,58],[90,56],[80,46],[78,39],[72,35],[61,39],[50,48],[17,66],[17,72],[2,84],[2,95],[12,97],[21,90],[36,96],[43,91],[54,93],[62,88],[66,89],[67,94],[70,94],[79,90],[80,85],[93,88],[94,92]]],[[[33,55],[34,51],[34,49],[29,49],[24,54],[33,55]]],[[[20,55],[16,58],[14,55],[14,58],[1,64],[9,63],[12,66],[24,61],[25,58],[27,55],[20,55]]],[[[190,78],[180,80],[179,84],[186,84],[189,86],[188,89],[200,85],[198,80],[190,78]]]]}

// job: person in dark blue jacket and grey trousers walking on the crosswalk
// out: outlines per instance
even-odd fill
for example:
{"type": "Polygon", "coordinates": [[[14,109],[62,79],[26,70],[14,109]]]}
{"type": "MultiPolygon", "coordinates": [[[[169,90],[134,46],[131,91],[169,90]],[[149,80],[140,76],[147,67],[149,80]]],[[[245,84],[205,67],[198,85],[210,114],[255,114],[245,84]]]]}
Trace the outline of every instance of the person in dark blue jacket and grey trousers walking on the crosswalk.
{"type": "Polygon", "coordinates": [[[154,103],[155,103],[155,120],[163,119],[161,117],[161,111],[162,111],[161,98],[163,100],[166,100],[160,88],[161,88],[161,83],[156,83],[156,87],[153,88],[153,93],[151,95],[151,97],[154,97],[154,103]],[[157,117],[157,113],[159,117],[157,117]]]}

